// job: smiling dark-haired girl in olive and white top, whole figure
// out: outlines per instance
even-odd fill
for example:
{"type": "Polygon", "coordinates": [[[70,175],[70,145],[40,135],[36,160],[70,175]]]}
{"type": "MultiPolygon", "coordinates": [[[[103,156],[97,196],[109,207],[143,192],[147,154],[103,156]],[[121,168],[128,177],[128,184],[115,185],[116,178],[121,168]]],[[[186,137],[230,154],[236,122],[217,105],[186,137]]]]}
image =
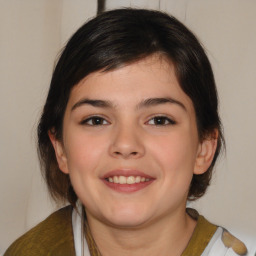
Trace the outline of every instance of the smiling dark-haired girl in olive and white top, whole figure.
{"type": "Polygon", "coordinates": [[[105,12],[67,43],[38,126],[51,195],[67,206],[5,255],[246,255],[188,200],[223,144],[208,58],[174,17],[105,12]]]}

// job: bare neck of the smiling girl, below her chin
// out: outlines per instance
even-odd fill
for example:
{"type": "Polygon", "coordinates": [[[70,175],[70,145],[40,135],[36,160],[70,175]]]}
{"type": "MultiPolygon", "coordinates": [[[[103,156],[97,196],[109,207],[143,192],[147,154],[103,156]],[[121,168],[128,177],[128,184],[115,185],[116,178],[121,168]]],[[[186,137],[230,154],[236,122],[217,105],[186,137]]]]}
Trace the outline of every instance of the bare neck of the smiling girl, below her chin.
{"type": "Polygon", "coordinates": [[[179,256],[186,248],[196,221],[185,213],[162,216],[136,228],[106,225],[87,213],[92,236],[102,256],[179,256]],[[171,254],[170,254],[171,253],[171,254]]]}

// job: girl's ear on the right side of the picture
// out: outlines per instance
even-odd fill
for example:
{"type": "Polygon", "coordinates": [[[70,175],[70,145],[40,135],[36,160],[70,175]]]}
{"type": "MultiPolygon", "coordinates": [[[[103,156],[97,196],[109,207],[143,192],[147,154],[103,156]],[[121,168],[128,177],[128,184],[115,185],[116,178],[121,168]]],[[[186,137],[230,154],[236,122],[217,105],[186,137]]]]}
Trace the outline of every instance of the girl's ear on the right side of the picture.
{"type": "Polygon", "coordinates": [[[194,174],[203,174],[210,167],[218,143],[218,131],[214,130],[199,145],[194,174]]]}

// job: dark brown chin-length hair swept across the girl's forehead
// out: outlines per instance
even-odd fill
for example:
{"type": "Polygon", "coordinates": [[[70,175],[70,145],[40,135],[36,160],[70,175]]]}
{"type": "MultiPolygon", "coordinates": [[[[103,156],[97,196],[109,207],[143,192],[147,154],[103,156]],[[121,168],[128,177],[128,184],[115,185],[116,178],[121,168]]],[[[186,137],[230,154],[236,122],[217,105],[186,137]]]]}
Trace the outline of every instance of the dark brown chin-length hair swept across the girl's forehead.
{"type": "Polygon", "coordinates": [[[48,97],[38,125],[42,172],[55,199],[75,205],[77,196],[69,175],[59,170],[48,132],[62,139],[62,122],[71,89],[88,74],[107,72],[152,54],[167,57],[176,68],[182,90],[193,102],[199,138],[218,131],[217,150],[209,169],[194,175],[189,200],[201,197],[224,142],[218,97],[209,60],[197,38],[168,14],[141,9],[102,13],[84,24],[69,40],[53,72],[48,97]]]}

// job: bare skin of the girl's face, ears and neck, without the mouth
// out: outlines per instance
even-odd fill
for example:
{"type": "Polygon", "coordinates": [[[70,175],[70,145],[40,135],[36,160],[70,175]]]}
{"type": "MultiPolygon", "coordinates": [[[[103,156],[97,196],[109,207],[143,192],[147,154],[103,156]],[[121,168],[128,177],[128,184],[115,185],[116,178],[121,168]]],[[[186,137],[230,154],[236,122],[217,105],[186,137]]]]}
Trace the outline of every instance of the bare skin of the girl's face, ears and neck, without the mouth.
{"type": "Polygon", "coordinates": [[[196,225],[185,211],[189,185],[210,166],[214,137],[198,138],[192,101],[159,56],[88,75],[71,91],[63,141],[50,135],[104,256],[181,255],[196,225]],[[145,103],[152,98],[172,102],[145,103]],[[113,190],[102,177],[116,169],[139,170],[152,182],[135,192],[113,190]]]}

